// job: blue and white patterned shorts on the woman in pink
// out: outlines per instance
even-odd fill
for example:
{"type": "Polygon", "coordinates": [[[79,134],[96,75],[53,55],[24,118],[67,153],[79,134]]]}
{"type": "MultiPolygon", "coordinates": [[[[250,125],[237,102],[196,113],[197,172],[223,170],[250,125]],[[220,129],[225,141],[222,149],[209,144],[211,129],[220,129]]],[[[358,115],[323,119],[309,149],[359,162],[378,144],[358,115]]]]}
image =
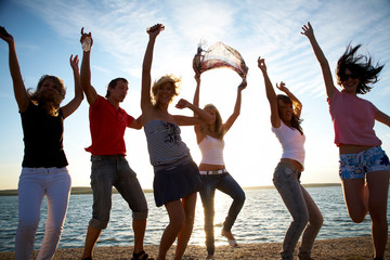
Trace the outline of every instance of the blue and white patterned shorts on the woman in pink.
{"type": "Polygon", "coordinates": [[[358,154],[341,154],[339,176],[341,180],[364,179],[372,171],[390,170],[389,157],[380,146],[358,154]]]}

